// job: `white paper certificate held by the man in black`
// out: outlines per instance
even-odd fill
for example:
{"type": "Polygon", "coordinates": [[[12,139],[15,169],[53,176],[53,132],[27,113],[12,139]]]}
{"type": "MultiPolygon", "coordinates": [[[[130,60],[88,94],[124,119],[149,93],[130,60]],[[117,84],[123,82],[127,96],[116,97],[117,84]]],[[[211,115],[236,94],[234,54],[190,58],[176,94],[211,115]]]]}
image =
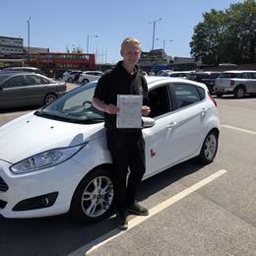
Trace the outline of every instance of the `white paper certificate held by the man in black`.
{"type": "Polygon", "coordinates": [[[143,96],[117,96],[118,128],[142,128],[142,100],[143,96]]]}

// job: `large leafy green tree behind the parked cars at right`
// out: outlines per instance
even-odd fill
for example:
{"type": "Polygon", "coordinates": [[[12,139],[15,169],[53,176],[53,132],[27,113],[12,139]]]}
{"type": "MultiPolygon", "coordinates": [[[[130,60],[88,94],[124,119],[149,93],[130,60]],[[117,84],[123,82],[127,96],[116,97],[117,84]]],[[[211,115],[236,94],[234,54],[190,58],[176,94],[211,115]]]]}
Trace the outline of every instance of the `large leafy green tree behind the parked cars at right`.
{"type": "Polygon", "coordinates": [[[232,4],[225,11],[203,14],[194,28],[191,55],[205,64],[252,63],[255,60],[256,4],[232,4]]]}

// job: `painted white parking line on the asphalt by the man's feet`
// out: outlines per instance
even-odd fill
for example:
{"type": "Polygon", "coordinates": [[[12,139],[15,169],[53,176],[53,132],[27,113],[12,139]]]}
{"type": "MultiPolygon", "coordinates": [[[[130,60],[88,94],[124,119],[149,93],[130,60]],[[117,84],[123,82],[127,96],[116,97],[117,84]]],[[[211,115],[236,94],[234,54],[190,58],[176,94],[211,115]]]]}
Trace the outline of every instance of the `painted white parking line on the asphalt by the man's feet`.
{"type": "Polygon", "coordinates": [[[195,192],[199,188],[207,185],[208,183],[212,182],[213,180],[217,179],[218,177],[222,176],[226,170],[220,169],[219,171],[215,172],[214,174],[210,175],[209,177],[197,182],[196,184],[188,187],[187,189],[179,192],[175,196],[165,200],[164,202],[160,203],[158,206],[150,209],[149,216],[138,216],[129,222],[129,228],[121,231],[119,228],[115,228],[108,233],[96,238],[96,240],[86,244],[85,246],[79,248],[77,251],[72,252],[68,256],[78,256],[78,255],[89,255],[91,252],[102,246],[103,244],[109,242],[110,240],[116,238],[117,236],[129,231],[134,226],[141,224],[151,217],[155,216],[156,214],[160,213],[167,207],[171,206],[172,204],[176,203],[177,201],[181,200],[182,198],[188,196],[189,194],[195,192]]]}

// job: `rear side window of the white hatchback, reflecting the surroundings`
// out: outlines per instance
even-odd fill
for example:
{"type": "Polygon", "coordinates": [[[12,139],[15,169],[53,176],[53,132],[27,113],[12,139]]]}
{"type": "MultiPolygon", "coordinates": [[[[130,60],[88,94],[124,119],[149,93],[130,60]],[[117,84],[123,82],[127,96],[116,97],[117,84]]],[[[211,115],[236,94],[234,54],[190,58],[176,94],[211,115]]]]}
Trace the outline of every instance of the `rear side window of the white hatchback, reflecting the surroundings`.
{"type": "Polygon", "coordinates": [[[200,101],[202,98],[202,96],[199,95],[196,87],[193,85],[173,84],[171,87],[174,93],[174,100],[177,108],[193,104],[200,101]]]}

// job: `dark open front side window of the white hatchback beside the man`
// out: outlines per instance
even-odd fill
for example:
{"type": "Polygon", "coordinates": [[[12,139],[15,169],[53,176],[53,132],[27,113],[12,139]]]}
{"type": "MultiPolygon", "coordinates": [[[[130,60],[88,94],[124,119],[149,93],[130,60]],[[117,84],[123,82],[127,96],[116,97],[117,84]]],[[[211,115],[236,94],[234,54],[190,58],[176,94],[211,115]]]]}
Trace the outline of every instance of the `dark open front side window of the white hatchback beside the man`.
{"type": "Polygon", "coordinates": [[[170,100],[167,86],[162,86],[149,93],[150,117],[157,117],[170,111],[170,100]]]}

